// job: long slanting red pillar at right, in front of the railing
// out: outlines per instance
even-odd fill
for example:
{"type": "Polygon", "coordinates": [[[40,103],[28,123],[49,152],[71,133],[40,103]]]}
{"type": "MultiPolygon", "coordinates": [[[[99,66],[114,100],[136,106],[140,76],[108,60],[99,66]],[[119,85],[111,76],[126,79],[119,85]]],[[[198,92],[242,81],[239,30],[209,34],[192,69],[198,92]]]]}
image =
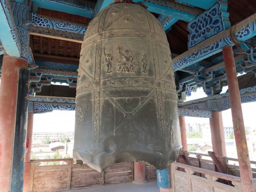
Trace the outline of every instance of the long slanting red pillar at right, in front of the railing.
{"type": "Polygon", "coordinates": [[[253,191],[253,184],[251,183],[251,163],[245,137],[245,125],[240,100],[240,91],[235,70],[233,50],[231,46],[226,46],[222,49],[222,51],[229,86],[229,99],[242,187],[244,192],[251,192],[253,191]]]}

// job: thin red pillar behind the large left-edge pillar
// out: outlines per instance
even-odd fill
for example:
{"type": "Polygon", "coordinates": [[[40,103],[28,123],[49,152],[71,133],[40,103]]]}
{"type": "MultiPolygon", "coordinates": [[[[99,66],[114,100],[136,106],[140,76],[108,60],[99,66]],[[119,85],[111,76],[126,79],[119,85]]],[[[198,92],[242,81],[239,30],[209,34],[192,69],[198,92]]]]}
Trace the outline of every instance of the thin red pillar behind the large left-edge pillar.
{"type": "Polygon", "coordinates": [[[23,192],[29,191],[29,176],[30,176],[30,158],[31,158],[31,147],[32,147],[32,133],[33,133],[33,113],[28,113],[27,117],[27,143],[26,143],[26,154],[25,154],[25,170],[24,170],[24,184],[23,192]]]}

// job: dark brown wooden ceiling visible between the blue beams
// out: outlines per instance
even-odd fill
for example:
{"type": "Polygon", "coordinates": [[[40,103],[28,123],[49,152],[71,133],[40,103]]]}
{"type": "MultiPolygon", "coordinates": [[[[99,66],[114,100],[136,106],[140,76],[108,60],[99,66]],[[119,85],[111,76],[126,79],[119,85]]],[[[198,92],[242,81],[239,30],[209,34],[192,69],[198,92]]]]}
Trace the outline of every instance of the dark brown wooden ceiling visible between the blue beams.
{"type": "MultiPolygon", "coordinates": [[[[256,13],[256,0],[229,0],[228,12],[230,14],[229,20],[231,25],[235,25],[256,13]]],[[[43,8],[39,8],[38,13],[44,16],[51,16],[84,24],[88,24],[91,21],[91,19],[82,16],[71,15],[59,11],[51,11],[43,8]]],[[[187,22],[177,21],[172,26],[171,31],[166,35],[172,53],[181,54],[187,51],[187,22]]],[[[80,43],[31,35],[30,45],[33,53],[57,55],[70,58],[80,57],[80,43]]]]}

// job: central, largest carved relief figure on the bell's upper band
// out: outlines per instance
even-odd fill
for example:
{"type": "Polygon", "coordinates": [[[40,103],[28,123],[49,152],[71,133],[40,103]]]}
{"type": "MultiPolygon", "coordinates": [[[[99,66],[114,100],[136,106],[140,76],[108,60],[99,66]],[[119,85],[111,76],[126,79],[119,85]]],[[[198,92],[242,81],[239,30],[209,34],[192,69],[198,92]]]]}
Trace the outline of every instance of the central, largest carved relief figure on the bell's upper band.
{"type": "Polygon", "coordinates": [[[131,51],[118,47],[117,52],[119,54],[117,58],[118,71],[120,73],[134,73],[136,63],[133,61],[134,55],[131,51]]]}

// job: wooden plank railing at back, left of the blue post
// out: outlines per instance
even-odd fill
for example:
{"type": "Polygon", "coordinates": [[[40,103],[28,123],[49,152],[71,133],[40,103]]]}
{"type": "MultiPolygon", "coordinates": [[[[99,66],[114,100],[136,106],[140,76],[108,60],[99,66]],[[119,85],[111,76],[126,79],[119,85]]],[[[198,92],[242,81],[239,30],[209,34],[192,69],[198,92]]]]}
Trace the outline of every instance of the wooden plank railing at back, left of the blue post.
{"type": "MultiPolygon", "coordinates": [[[[154,168],[146,166],[146,171],[148,180],[156,178],[154,168]]],[[[74,164],[73,159],[30,161],[29,192],[51,192],[132,181],[133,162],[113,164],[99,173],[86,164],[74,164]],[[62,165],[46,165],[49,162],[60,162],[62,165]]]]}

